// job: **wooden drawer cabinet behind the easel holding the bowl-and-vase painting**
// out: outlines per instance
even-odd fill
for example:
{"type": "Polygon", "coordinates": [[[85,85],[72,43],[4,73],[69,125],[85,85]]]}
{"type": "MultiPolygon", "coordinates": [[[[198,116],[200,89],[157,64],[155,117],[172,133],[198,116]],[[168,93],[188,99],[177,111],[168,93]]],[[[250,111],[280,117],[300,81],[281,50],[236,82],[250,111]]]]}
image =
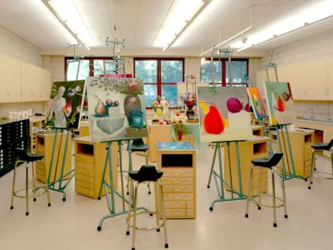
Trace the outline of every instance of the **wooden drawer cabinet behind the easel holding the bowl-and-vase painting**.
{"type": "MultiPolygon", "coordinates": [[[[98,198],[103,168],[106,157],[106,145],[101,142],[91,142],[89,137],[76,138],[75,142],[75,191],[87,197],[98,198]]],[[[117,142],[112,142],[112,174],[113,186],[117,189],[117,142]]],[[[110,174],[107,168],[105,180],[110,180],[110,174]]],[[[103,187],[102,194],[105,195],[103,187]]]]}

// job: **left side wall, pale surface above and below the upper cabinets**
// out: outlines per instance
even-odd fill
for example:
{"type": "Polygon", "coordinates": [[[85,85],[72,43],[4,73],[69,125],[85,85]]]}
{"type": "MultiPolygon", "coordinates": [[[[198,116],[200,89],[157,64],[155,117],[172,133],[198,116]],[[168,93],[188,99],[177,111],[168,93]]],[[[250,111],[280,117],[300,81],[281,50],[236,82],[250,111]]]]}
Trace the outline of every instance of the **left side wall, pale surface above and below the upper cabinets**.
{"type": "MultiPolygon", "coordinates": [[[[19,60],[25,60],[28,63],[42,67],[42,55],[40,48],[28,42],[19,35],[16,35],[7,28],[0,26],[0,53],[6,54],[19,60]]],[[[0,83],[0,86],[3,83],[0,83]]],[[[1,90],[0,90],[1,91],[1,90]]],[[[19,102],[19,103],[1,103],[0,117],[8,115],[8,111],[19,111],[33,108],[33,112],[43,112],[46,103],[43,101],[19,102]]]]}

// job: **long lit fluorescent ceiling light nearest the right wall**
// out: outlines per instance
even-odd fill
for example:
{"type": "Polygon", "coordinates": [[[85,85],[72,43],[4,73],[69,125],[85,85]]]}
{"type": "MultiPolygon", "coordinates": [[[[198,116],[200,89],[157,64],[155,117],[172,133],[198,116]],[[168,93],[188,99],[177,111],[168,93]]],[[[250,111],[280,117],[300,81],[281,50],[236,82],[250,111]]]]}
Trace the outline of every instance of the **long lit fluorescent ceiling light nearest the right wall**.
{"type": "Polygon", "coordinates": [[[330,17],[333,17],[332,0],[307,2],[299,10],[291,13],[291,15],[284,15],[282,19],[275,22],[275,24],[271,24],[263,31],[248,36],[245,46],[243,42],[238,41],[232,44],[231,47],[240,48],[237,52],[243,51],[330,17]]]}

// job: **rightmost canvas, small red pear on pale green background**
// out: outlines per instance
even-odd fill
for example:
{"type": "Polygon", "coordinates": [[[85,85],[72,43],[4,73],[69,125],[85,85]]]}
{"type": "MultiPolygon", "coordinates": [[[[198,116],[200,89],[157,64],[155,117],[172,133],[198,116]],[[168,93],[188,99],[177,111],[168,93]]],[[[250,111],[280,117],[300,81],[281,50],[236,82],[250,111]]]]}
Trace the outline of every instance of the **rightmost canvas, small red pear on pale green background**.
{"type": "Polygon", "coordinates": [[[292,124],[295,121],[295,107],[290,84],[264,81],[264,89],[270,124],[292,124]]]}

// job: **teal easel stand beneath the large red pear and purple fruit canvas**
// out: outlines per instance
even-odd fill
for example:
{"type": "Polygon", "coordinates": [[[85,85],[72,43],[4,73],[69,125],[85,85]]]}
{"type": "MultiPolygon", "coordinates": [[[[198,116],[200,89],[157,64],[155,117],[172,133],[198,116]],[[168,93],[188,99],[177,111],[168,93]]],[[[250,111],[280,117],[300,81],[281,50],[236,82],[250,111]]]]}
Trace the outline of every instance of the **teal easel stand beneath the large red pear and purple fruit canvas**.
{"type": "Polygon", "coordinates": [[[242,184],[241,184],[241,163],[240,163],[240,159],[239,159],[239,142],[245,142],[245,141],[246,140],[224,141],[224,143],[226,144],[227,149],[228,149],[228,162],[229,162],[228,167],[229,167],[230,183],[225,181],[225,179],[223,178],[222,156],[221,156],[221,143],[223,143],[223,141],[221,141],[221,142],[212,142],[213,144],[215,144],[215,150],[214,150],[213,162],[212,162],[212,167],[210,169],[210,177],[208,179],[207,188],[210,188],[210,182],[212,181],[212,176],[214,176],[214,182],[215,182],[215,185],[216,185],[216,190],[217,190],[217,193],[219,194],[220,199],[215,199],[214,201],[212,201],[212,203],[210,205],[210,211],[213,210],[214,204],[216,202],[238,201],[238,200],[246,199],[246,197],[243,194],[243,187],[242,187],[242,184]],[[235,146],[236,146],[236,159],[237,159],[239,192],[234,190],[233,183],[232,183],[232,171],[231,171],[231,162],[230,162],[230,143],[231,142],[234,142],[235,146]],[[214,165],[215,165],[215,160],[216,160],[216,152],[219,153],[219,172],[220,172],[219,174],[216,173],[216,171],[214,170],[214,165]],[[217,178],[219,178],[220,181],[218,181],[217,178]],[[224,185],[227,185],[230,188],[231,198],[225,198],[224,187],[223,187],[224,185]],[[220,188],[221,188],[221,190],[220,190],[220,188]],[[237,194],[238,197],[234,197],[234,194],[237,194]]]}

